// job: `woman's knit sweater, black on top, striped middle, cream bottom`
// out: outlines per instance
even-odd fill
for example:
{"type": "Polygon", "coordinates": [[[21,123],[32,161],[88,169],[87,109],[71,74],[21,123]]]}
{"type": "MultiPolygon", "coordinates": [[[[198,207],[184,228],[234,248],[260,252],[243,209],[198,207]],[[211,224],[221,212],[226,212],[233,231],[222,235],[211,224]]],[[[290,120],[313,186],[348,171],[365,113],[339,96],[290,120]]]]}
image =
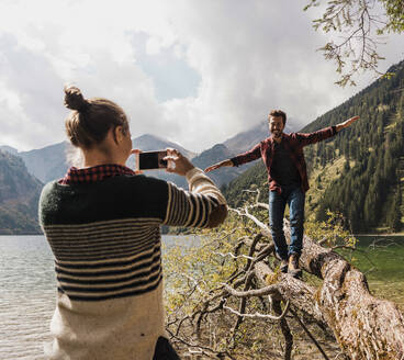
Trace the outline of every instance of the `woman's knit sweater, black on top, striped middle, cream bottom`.
{"type": "Polygon", "coordinates": [[[225,200],[200,169],[190,191],[144,176],[43,189],[40,221],[55,256],[49,359],[152,359],[164,330],[160,229],[206,227],[225,200]]]}

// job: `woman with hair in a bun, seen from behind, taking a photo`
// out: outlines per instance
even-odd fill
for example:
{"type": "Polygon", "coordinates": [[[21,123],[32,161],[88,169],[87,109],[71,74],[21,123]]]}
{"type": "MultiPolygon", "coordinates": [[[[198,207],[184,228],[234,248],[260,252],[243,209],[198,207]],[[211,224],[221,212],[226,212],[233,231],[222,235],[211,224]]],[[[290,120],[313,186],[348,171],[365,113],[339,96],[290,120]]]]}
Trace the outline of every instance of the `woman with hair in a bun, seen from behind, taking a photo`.
{"type": "Polygon", "coordinates": [[[190,191],[135,175],[123,110],[65,88],[71,144],[83,167],[43,189],[40,221],[55,256],[56,311],[50,359],[178,359],[165,338],[160,229],[213,227],[225,200],[204,172],[177,150],[173,169],[190,191]]]}

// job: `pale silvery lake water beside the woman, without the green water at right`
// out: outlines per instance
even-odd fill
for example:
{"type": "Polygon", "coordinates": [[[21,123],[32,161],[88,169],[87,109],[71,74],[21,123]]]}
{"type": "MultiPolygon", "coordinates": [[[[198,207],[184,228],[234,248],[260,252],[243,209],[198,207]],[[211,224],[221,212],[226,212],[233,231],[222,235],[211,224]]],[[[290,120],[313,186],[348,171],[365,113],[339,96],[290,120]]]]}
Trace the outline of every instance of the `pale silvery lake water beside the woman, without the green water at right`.
{"type": "MultiPolygon", "coordinates": [[[[195,244],[192,236],[162,236],[195,244]]],[[[55,310],[54,258],[44,236],[0,236],[0,359],[43,359],[55,310]]]]}

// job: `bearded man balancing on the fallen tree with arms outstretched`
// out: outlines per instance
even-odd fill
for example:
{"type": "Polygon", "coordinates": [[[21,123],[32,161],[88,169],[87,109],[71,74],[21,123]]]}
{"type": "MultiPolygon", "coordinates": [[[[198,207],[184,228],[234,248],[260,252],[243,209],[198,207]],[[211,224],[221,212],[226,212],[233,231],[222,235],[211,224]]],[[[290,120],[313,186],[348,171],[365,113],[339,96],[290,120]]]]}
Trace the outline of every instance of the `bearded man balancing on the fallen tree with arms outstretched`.
{"type": "Polygon", "coordinates": [[[354,116],[338,125],[329,126],[310,134],[283,133],[287,114],[272,110],[268,116],[271,136],[257,144],[249,151],[239,154],[205,169],[206,172],[221,167],[239,166],[262,157],[268,171],[269,183],[269,223],[276,251],[281,259],[281,271],[294,277],[301,275],[299,258],[303,246],[304,199],[308,190],[306,164],[303,147],[334,136],[344,127],[356,122],[354,116]],[[283,233],[284,209],[289,205],[291,244],[283,233]]]}

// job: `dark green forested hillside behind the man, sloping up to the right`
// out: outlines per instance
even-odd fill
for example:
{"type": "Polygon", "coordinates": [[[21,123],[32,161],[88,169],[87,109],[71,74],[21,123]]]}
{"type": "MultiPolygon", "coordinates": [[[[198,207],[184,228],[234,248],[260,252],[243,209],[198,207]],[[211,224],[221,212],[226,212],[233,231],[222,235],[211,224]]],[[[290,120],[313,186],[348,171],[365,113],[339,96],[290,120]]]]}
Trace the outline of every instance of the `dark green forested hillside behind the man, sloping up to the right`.
{"type": "MultiPolygon", "coordinates": [[[[317,220],[327,210],[340,212],[354,232],[400,230],[404,215],[404,61],[383,78],[305,126],[313,132],[354,115],[360,120],[337,136],[305,148],[312,189],[307,211],[317,220]]],[[[239,205],[243,189],[259,187],[268,194],[260,161],[225,190],[239,205]]]]}

